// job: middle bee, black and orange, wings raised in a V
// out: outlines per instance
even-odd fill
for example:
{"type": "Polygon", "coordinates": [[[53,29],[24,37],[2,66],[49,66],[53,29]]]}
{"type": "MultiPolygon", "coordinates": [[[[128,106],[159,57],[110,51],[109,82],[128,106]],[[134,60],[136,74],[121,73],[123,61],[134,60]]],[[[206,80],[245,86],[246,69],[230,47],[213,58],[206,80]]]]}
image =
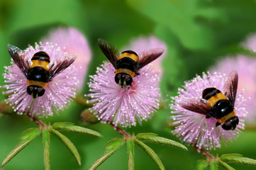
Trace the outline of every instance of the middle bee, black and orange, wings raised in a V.
{"type": "Polygon", "coordinates": [[[148,50],[141,52],[140,55],[132,50],[120,52],[117,47],[100,38],[98,39],[98,45],[109,62],[115,67],[115,81],[122,88],[131,86],[133,77],[140,75],[138,71],[156,60],[164,52],[163,49],[148,50]]]}

